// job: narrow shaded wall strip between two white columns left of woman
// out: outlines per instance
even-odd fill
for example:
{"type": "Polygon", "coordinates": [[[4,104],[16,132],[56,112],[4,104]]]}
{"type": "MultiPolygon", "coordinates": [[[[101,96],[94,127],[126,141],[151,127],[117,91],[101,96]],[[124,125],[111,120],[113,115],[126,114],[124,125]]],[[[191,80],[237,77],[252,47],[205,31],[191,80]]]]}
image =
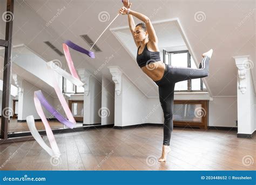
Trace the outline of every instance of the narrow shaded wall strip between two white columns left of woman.
{"type": "Polygon", "coordinates": [[[114,124],[114,83],[102,77],[102,125],[114,124]]]}

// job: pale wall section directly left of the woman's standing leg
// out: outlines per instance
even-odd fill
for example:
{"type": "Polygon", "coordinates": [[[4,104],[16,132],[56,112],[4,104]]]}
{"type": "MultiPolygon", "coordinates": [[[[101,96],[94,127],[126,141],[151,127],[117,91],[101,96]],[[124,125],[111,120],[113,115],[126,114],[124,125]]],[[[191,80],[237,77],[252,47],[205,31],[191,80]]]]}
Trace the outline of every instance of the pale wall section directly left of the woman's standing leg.
{"type": "Polygon", "coordinates": [[[159,98],[147,98],[125,74],[122,74],[121,84],[121,94],[115,93],[114,126],[163,124],[163,111],[159,98]]]}

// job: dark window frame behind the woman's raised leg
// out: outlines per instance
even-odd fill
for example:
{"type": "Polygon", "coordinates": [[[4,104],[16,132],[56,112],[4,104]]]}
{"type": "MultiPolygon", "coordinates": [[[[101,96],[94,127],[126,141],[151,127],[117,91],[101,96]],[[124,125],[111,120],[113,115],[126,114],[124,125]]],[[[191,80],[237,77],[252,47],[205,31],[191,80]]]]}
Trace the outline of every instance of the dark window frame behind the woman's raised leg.
{"type": "MultiPolygon", "coordinates": [[[[168,54],[168,64],[171,65],[171,54],[187,53],[187,67],[191,67],[191,54],[188,50],[179,50],[179,51],[166,51],[163,50],[163,63],[166,64],[166,54],[168,54]]],[[[203,88],[203,78],[200,78],[200,90],[192,90],[192,80],[187,80],[187,90],[175,90],[174,92],[207,92],[207,89],[203,88]]]]}

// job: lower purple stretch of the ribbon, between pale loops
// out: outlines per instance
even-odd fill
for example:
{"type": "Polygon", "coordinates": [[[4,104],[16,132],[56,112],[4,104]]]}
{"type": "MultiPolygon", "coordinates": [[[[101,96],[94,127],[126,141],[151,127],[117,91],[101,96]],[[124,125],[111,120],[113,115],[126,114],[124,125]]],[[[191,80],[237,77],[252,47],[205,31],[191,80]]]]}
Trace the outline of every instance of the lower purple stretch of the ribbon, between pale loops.
{"type": "Polygon", "coordinates": [[[44,106],[44,108],[49,111],[52,115],[55,116],[55,118],[57,120],[59,120],[59,122],[62,122],[64,125],[66,125],[69,128],[73,128],[74,124],[72,122],[70,122],[69,120],[67,120],[66,118],[64,118],[60,113],[57,112],[57,110],[52,107],[49,102],[45,99],[43,93],[41,90],[39,91],[35,91],[35,95],[37,96],[38,100],[41,102],[41,104],[44,106]]]}

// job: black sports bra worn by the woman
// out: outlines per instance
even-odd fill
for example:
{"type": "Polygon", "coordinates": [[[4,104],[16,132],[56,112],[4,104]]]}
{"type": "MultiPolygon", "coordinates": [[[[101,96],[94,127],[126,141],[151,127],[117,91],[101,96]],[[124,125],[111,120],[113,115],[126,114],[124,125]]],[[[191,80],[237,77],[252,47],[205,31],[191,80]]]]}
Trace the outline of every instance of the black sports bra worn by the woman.
{"type": "Polygon", "coordinates": [[[144,67],[147,64],[155,63],[157,61],[160,61],[160,52],[159,51],[149,51],[147,49],[147,44],[144,47],[144,50],[141,54],[139,54],[139,48],[137,51],[137,63],[140,68],[144,67]]]}

